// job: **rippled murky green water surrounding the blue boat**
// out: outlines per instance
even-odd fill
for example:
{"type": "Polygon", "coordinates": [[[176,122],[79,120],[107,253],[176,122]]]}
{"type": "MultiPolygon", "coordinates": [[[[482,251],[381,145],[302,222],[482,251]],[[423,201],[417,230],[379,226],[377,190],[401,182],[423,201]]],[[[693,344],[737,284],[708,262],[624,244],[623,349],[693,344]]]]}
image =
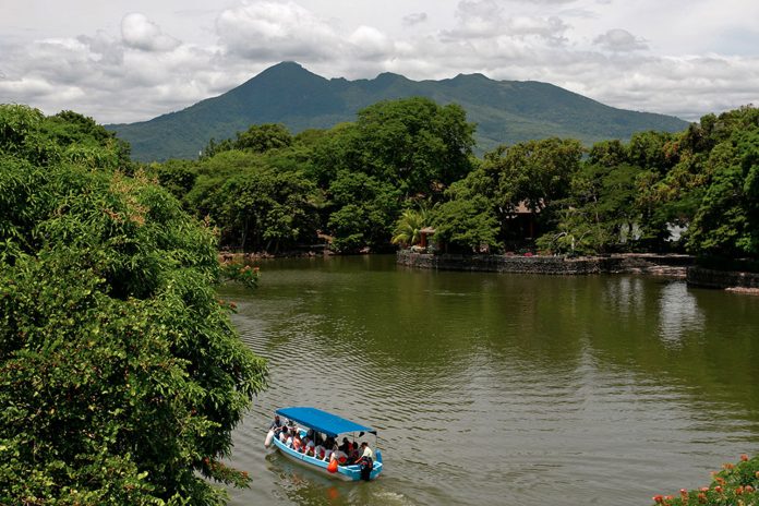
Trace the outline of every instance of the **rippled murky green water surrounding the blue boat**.
{"type": "Polygon", "coordinates": [[[253,477],[234,505],[647,505],[759,453],[759,297],[393,256],[260,265],[256,291],[222,293],[272,371],[234,434],[253,477]],[[377,427],[383,475],[265,450],[272,411],[298,405],[377,427]]]}

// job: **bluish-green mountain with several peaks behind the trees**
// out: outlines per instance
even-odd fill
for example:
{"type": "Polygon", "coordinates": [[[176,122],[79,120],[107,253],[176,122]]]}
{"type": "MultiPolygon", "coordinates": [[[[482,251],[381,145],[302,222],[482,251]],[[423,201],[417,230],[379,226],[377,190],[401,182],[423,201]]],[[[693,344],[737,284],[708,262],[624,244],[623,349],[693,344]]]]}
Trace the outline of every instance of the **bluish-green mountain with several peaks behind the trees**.
{"type": "Polygon", "coordinates": [[[641,130],[674,132],[688,124],[672,116],[616,109],[535,81],[493,81],[482,74],[411,81],[393,73],[373,80],[327,80],[298,63],[282,62],[181,111],[106,128],[132,144],[134,159],[195,158],[209,138],[231,137],[253,123],[281,123],[293,133],[327,129],[353,121],[357,111],[380,100],[410,96],[461,105],[469,121],[478,124],[479,150],[554,135],[592,144],[627,140],[641,130]]]}

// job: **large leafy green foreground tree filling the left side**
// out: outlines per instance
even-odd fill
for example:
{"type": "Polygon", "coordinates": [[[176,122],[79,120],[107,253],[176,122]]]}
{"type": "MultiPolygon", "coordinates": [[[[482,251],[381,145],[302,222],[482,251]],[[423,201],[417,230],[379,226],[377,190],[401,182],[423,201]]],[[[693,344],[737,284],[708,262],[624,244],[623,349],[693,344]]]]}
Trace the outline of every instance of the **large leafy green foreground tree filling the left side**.
{"type": "Polygon", "coordinates": [[[92,119],[0,106],[0,504],[220,504],[265,385],[212,230],[92,119]],[[133,173],[128,177],[125,173],[133,173]]]}

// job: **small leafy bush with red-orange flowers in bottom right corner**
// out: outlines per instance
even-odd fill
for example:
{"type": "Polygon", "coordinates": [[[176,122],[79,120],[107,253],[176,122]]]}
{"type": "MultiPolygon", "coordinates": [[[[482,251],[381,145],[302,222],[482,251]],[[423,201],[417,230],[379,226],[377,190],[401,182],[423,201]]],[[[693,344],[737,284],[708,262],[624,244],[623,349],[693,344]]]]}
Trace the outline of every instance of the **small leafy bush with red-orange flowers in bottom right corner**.
{"type": "Polygon", "coordinates": [[[654,505],[664,506],[752,506],[759,504],[759,457],[740,456],[736,465],[725,463],[721,471],[712,473],[709,486],[688,491],[680,489],[677,495],[655,495],[654,505]]]}

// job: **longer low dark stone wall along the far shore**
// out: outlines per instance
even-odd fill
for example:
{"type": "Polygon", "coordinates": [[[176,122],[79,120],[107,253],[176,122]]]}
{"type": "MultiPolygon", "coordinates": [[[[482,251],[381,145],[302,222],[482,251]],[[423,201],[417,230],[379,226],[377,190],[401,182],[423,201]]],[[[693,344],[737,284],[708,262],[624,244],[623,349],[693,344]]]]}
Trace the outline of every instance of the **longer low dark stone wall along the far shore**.
{"type": "Polygon", "coordinates": [[[453,255],[398,252],[398,264],[439,270],[487,273],[582,275],[600,273],[648,273],[685,277],[692,258],[685,255],[611,255],[566,258],[564,256],[453,255]]]}

